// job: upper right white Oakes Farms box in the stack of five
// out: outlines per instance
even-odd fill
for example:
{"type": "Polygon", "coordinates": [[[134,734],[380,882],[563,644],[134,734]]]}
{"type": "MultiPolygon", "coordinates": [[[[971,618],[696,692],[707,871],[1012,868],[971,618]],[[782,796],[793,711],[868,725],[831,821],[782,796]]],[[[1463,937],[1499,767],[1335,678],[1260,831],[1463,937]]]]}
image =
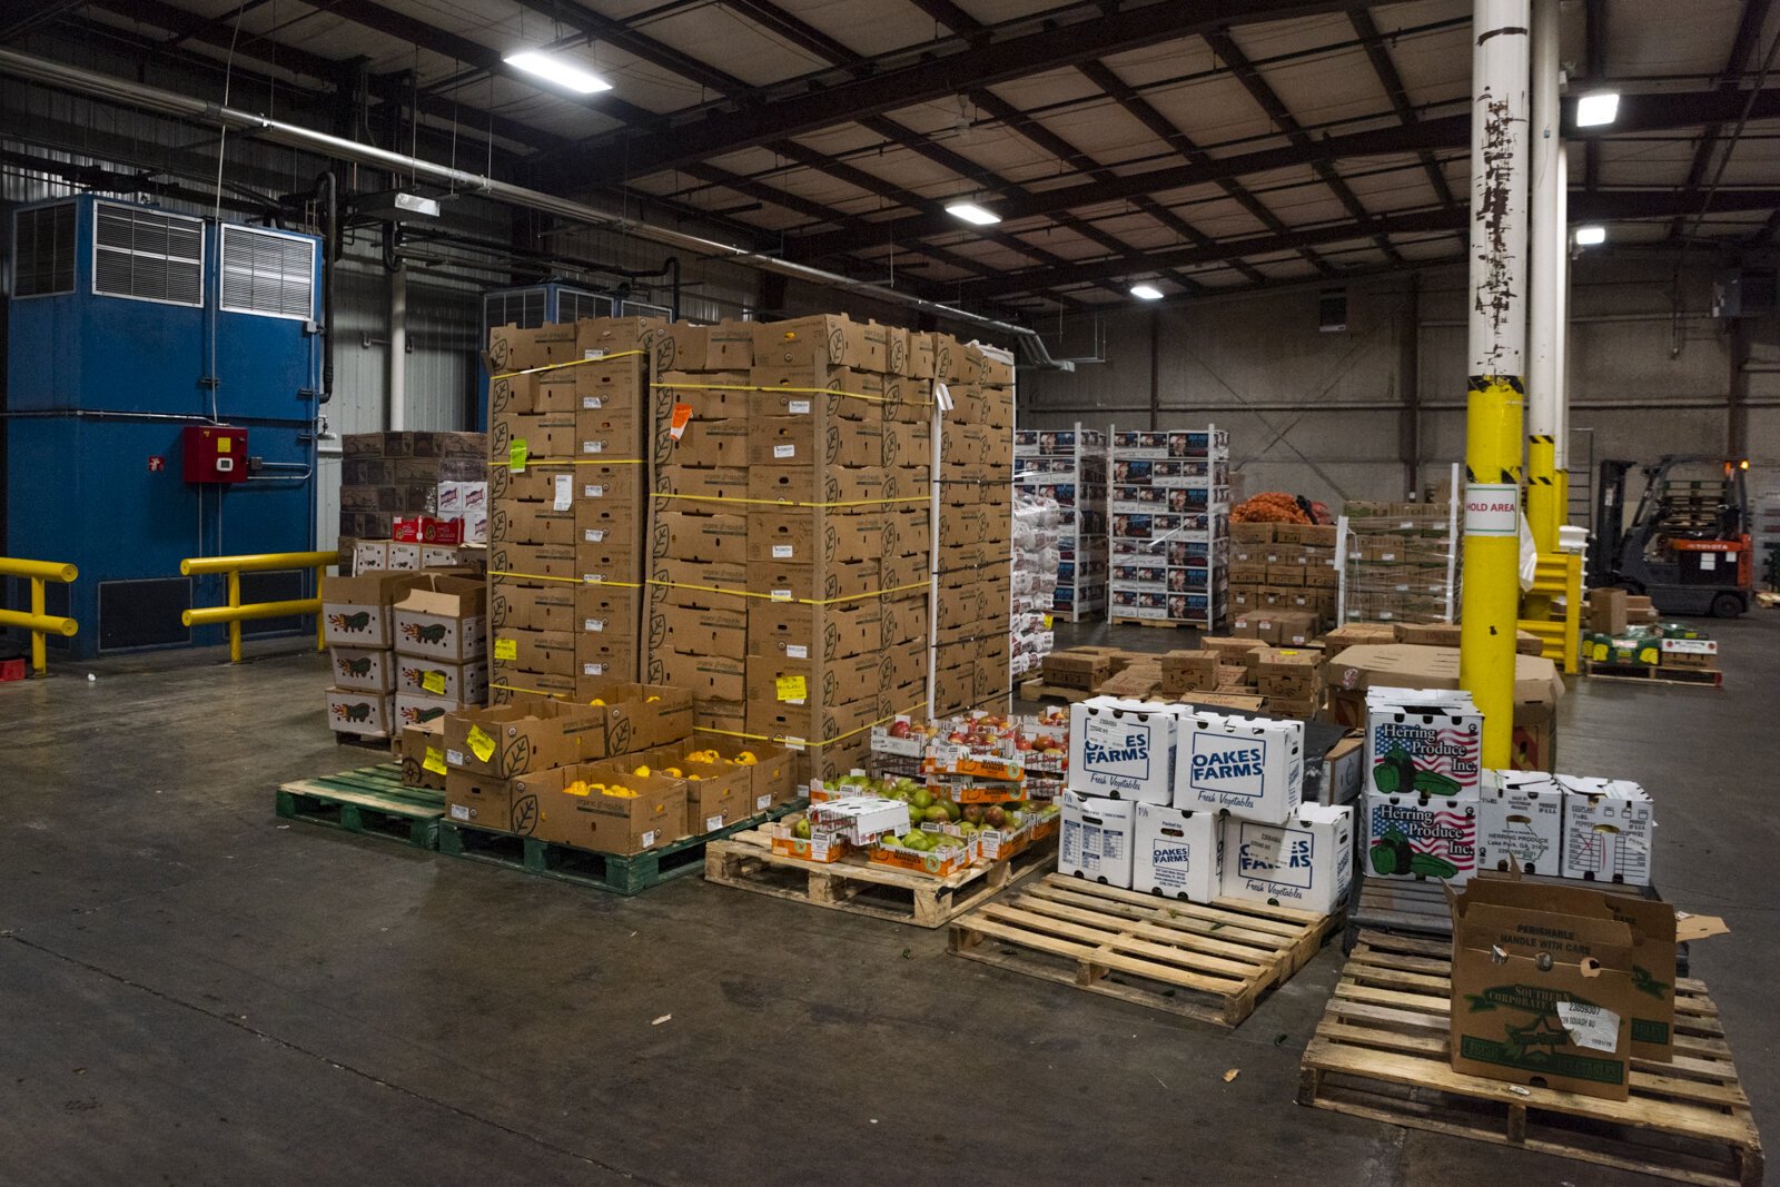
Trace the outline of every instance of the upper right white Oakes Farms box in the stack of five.
{"type": "Polygon", "coordinates": [[[1280,824],[1305,794],[1305,724],[1212,712],[1180,723],[1177,808],[1226,808],[1280,824]]]}

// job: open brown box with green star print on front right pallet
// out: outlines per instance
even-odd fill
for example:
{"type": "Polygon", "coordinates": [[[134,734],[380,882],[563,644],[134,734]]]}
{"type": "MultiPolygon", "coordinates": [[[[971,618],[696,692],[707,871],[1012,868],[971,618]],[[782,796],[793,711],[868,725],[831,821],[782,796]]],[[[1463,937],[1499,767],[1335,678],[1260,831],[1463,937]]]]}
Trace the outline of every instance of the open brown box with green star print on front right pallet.
{"type": "Polygon", "coordinates": [[[1499,900],[1504,881],[1452,895],[1452,1070],[1625,1100],[1639,1011],[1632,927],[1552,897],[1499,900]]]}

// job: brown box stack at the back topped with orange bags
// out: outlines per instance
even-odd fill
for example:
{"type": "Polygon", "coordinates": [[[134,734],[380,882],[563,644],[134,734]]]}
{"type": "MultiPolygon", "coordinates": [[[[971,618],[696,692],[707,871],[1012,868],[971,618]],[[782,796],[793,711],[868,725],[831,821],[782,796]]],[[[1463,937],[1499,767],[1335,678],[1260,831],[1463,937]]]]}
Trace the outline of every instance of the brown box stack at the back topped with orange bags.
{"type": "MultiPolygon", "coordinates": [[[[1335,529],[1317,523],[1230,525],[1230,614],[1239,621],[1308,623],[1310,635],[1335,621],[1335,529]]],[[[1242,628],[1237,630],[1241,634],[1242,628]]],[[[1292,630],[1298,635],[1303,630],[1292,630]]],[[[1266,639],[1264,634],[1253,635],[1266,639]]],[[[1292,642],[1292,639],[1267,639],[1292,642]]],[[[1299,641],[1301,642],[1301,641],[1299,641]]]]}

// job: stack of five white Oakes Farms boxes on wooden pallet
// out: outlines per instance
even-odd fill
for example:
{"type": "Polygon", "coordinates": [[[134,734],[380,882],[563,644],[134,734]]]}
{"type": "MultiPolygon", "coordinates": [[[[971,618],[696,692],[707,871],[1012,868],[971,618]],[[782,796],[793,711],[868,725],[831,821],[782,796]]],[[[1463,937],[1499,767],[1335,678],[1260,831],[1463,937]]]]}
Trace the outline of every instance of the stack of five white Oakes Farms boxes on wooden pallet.
{"type": "Polygon", "coordinates": [[[1353,808],[1301,803],[1303,781],[1303,723],[1082,701],[1057,870],[1193,902],[1337,911],[1353,808]]]}

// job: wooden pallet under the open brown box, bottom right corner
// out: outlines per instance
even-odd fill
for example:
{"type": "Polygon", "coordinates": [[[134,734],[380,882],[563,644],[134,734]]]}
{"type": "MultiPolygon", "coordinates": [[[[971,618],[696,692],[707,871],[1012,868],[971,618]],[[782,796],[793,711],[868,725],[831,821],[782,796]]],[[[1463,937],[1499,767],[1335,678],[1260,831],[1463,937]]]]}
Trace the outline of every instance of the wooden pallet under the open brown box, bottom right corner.
{"type": "Polygon", "coordinates": [[[1298,1103],[1684,1183],[1755,1187],[1762,1143],[1718,1007],[1675,984],[1675,1061],[1632,1061],[1630,1100],[1463,1075],[1449,1062],[1449,945],[1365,931],[1305,1048],[1298,1103]]]}

